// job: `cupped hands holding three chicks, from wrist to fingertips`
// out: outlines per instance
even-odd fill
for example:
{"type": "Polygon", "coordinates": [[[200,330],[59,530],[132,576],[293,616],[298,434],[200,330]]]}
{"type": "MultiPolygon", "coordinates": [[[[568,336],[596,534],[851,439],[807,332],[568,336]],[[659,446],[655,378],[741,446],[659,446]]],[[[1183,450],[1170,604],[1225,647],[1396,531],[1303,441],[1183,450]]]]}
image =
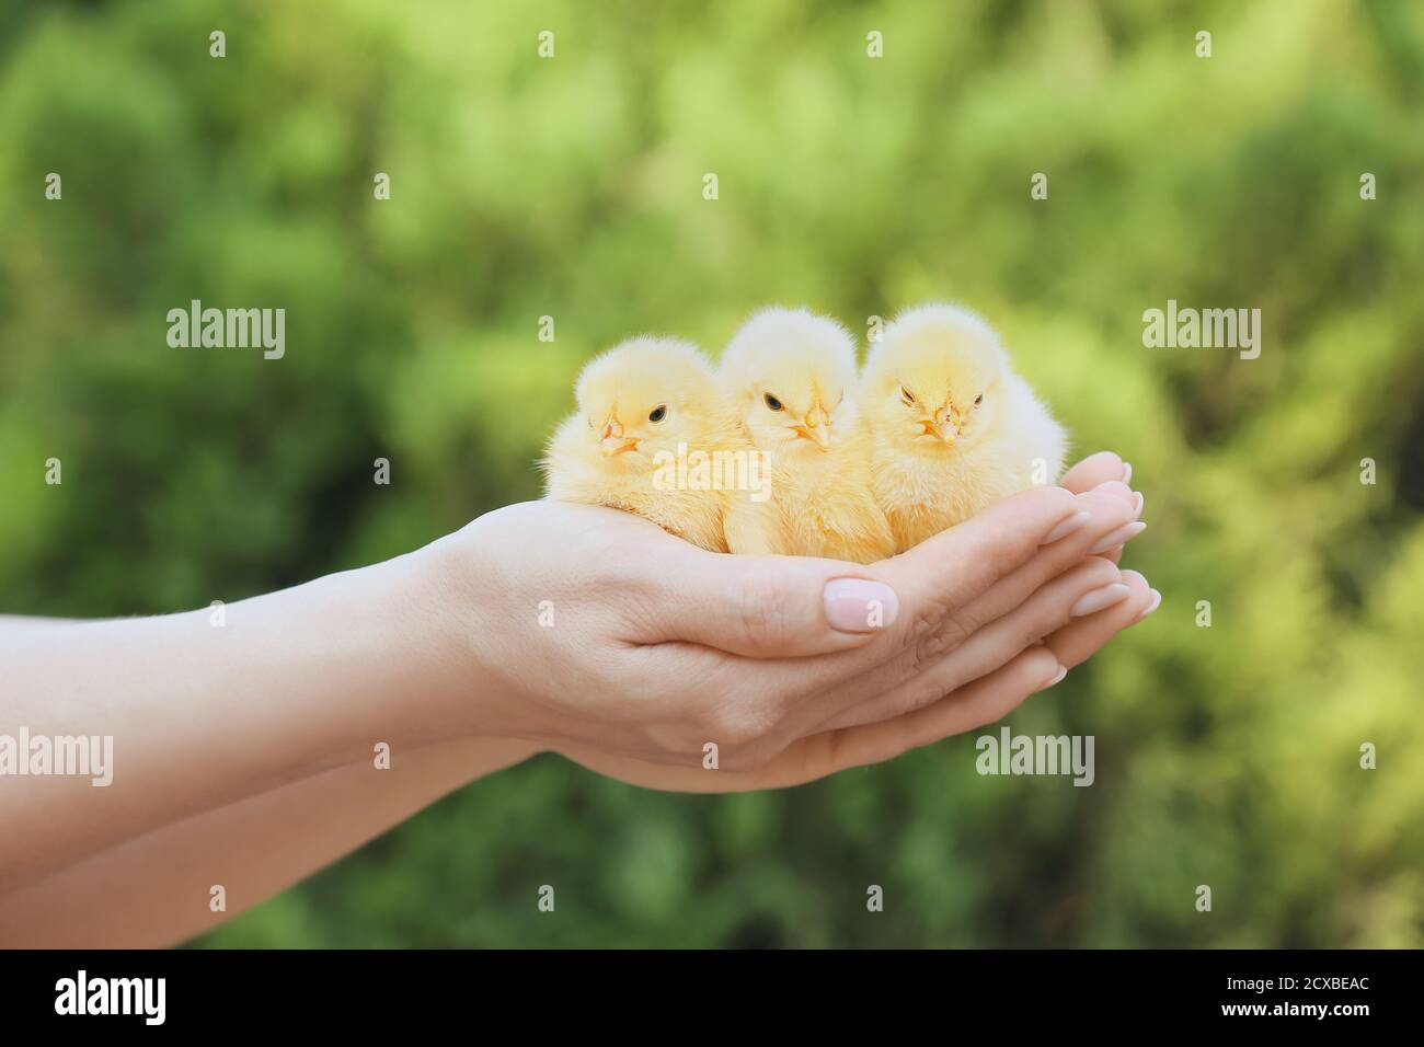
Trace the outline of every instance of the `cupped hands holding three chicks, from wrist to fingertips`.
{"type": "Polygon", "coordinates": [[[611,509],[510,506],[437,543],[464,731],[651,788],[792,785],[1001,718],[1155,604],[1114,563],[1115,454],[870,566],[706,553],[611,509]]]}

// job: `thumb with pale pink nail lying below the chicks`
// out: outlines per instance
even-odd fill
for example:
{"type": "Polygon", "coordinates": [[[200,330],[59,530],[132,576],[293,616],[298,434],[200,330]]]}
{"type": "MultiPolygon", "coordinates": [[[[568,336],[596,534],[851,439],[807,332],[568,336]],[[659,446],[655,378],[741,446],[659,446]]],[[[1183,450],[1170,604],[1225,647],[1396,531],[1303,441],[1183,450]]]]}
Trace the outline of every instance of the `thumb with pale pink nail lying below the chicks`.
{"type": "Polygon", "coordinates": [[[862,647],[900,615],[896,591],[860,564],[693,547],[678,561],[659,564],[651,642],[797,658],[862,647]]]}

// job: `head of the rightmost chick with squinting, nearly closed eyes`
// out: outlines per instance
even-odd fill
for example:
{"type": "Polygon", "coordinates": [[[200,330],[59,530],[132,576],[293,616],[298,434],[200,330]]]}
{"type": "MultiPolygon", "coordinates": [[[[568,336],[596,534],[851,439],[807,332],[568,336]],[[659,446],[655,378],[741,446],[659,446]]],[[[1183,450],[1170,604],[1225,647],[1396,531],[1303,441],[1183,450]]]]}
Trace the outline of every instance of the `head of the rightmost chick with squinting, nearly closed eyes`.
{"type": "Polygon", "coordinates": [[[994,432],[1007,355],[978,315],[924,305],[890,323],[866,359],[864,410],[903,450],[968,450],[994,432]]]}

